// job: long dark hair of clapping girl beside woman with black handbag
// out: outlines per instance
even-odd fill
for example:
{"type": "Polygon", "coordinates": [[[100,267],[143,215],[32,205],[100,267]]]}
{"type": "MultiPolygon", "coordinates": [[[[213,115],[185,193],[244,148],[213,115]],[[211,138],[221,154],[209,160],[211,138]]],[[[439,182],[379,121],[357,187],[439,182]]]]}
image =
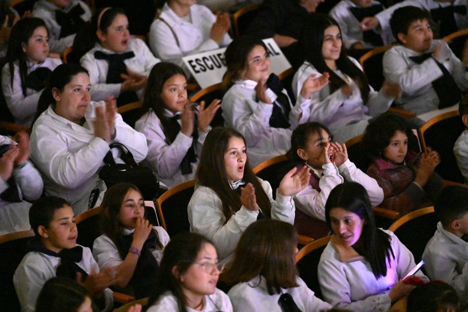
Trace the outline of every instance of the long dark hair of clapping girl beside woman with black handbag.
{"type": "MultiPolygon", "coordinates": [[[[162,100],[162,86],[171,77],[180,74],[185,77],[187,80],[187,76],[185,75],[184,71],[180,66],[170,62],[160,62],[157,63],[151,69],[150,75],[148,76],[148,83],[147,88],[145,90],[145,96],[143,98],[143,110],[149,111],[153,110],[161,121],[162,124],[162,131],[166,136],[171,135],[171,131],[168,131],[168,123],[169,119],[164,115],[164,108],[166,104],[162,100]]],[[[177,135],[177,133],[175,133],[177,135]]],[[[168,142],[172,143],[175,140],[174,137],[167,137],[168,142]]]]}

